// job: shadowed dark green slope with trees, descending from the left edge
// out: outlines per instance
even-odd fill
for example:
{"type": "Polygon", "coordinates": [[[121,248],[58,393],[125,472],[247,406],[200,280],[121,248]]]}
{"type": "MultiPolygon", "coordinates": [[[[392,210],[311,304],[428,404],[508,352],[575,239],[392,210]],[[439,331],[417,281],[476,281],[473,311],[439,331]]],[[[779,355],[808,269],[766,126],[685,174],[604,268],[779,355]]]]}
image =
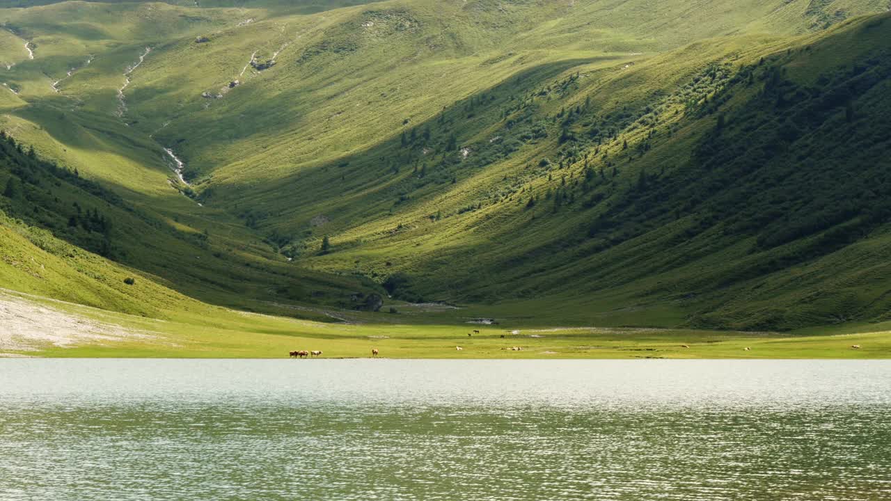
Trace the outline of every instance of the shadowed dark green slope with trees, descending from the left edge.
{"type": "MultiPolygon", "coordinates": [[[[117,193],[81,177],[78,170],[40,160],[33,149],[26,151],[5,136],[0,137],[0,186],[0,210],[19,221],[13,225],[17,231],[29,238],[34,236],[31,242],[45,252],[62,260],[98,254],[139,268],[139,273],[152,283],[162,283],[202,300],[280,311],[272,304],[274,301],[312,299],[340,304],[349,300],[348,291],[369,290],[358,280],[314,274],[287,262],[264,259],[270,255],[266,245],[250,242],[249,234],[237,227],[227,229],[218,222],[204,225],[199,218],[184,221],[143,211],[117,193]]],[[[12,220],[7,219],[7,224],[12,220]]],[[[6,245],[4,256],[28,253],[14,242],[6,245]]],[[[45,278],[38,287],[30,283],[29,276],[33,274],[25,275],[9,275],[3,286],[131,312],[132,305],[119,304],[118,300],[94,299],[92,287],[54,278],[45,278]],[[20,280],[29,285],[16,286],[20,280]],[[86,295],[80,296],[81,293],[86,295]]],[[[98,276],[92,272],[87,275],[98,276]]],[[[110,283],[119,291],[128,290],[119,275],[109,278],[110,283]]],[[[101,281],[106,283],[106,277],[102,276],[101,281]]],[[[163,310],[161,306],[152,308],[152,315],[162,315],[163,310]]]]}

